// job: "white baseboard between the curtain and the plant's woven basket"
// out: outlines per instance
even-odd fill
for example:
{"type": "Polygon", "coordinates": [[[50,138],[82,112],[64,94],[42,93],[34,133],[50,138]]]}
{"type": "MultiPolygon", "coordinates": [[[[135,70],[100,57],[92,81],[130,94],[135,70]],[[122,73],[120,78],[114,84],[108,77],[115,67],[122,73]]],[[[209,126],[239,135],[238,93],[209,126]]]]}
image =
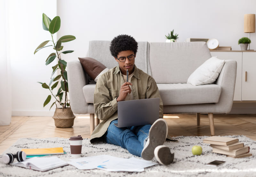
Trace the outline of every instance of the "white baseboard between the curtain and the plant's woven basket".
{"type": "Polygon", "coordinates": [[[12,110],[12,116],[52,117],[54,111],[12,110]]]}

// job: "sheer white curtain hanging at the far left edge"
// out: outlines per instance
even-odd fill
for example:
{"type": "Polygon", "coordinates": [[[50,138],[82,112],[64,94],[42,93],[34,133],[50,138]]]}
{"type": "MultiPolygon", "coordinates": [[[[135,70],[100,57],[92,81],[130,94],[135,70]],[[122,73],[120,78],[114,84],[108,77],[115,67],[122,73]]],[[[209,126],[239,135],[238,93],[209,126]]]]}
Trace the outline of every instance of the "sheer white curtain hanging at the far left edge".
{"type": "Polygon", "coordinates": [[[7,0],[0,0],[0,125],[9,125],[12,117],[12,88],[7,3],[7,0]]]}

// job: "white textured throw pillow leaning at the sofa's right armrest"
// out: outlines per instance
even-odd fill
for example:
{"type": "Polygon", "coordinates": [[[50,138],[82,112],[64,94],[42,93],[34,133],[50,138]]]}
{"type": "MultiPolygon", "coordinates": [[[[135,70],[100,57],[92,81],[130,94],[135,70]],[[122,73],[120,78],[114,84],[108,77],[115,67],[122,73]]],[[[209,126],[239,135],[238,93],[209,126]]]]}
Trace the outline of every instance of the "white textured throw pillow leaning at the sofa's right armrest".
{"type": "Polygon", "coordinates": [[[192,85],[212,84],[219,77],[225,60],[212,57],[206,60],[189,77],[187,83],[192,85]]]}

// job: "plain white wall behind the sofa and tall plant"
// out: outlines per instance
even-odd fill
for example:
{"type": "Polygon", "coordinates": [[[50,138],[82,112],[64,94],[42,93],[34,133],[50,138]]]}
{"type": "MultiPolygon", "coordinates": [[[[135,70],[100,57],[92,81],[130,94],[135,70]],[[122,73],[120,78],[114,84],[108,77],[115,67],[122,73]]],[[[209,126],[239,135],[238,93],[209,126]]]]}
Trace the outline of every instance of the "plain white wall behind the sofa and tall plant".
{"type": "MultiPolygon", "coordinates": [[[[52,0],[11,2],[13,116],[53,115],[50,106],[43,108],[49,93],[36,83],[49,82],[51,68],[44,62],[51,52],[45,49],[33,54],[41,42],[49,39],[41,26],[43,12],[53,18],[57,10],[61,18],[59,37],[76,36],[76,40],[63,44],[64,50],[75,50],[62,56],[66,61],[84,57],[90,40],[129,34],[137,41],[164,42],[164,35],[172,29],[179,34],[178,42],[216,38],[220,46],[240,50],[238,39],[248,37],[244,33],[244,14],[256,14],[253,0],[57,0],[57,5],[52,0]]],[[[256,33],[251,33],[251,40],[251,49],[256,50],[256,33]]]]}

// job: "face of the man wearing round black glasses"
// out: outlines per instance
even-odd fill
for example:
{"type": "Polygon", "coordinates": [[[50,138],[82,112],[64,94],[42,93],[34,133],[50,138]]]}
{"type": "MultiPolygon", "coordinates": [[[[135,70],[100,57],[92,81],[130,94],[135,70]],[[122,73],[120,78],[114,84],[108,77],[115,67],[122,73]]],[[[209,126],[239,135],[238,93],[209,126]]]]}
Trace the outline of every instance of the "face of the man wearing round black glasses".
{"type": "Polygon", "coordinates": [[[126,75],[126,70],[128,69],[129,75],[132,74],[133,70],[134,70],[134,62],[135,62],[135,57],[133,60],[129,60],[128,57],[131,57],[131,55],[135,55],[131,50],[125,50],[122,52],[119,52],[117,55],[117,58],[120,57],[126,57],[124,62],[119,61],[116,57],[115,60],[118,62],[119,64],[119,68],[121,70],[121,73],[126,75]]]}

